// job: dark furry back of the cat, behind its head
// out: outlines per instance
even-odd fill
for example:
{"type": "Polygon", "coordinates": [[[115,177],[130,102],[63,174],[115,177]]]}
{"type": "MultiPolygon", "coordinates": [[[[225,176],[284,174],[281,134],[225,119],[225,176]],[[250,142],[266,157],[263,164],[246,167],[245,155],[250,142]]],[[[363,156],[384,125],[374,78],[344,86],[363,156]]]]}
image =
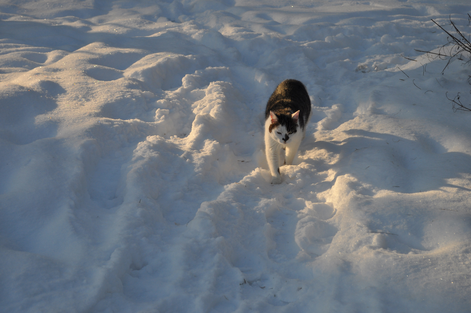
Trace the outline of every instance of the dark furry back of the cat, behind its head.
{"type": "Polygon", "coordinates": [[[311,100],[304,84],[295,79],[287,79],[276,87],[268,99],[265,110],[265,118],[270,111],[278,112],[289,109],[292,113],[300,110],[301,115],[309,115],[311,111],[311,100]]]}

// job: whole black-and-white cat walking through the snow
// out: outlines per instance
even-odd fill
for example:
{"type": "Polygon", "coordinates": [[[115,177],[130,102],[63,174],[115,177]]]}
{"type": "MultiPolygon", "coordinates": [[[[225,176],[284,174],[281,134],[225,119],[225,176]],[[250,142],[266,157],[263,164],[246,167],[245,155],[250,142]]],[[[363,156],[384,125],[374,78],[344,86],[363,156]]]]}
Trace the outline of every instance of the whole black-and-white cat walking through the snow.
{"type": "Polygon", "coordinates": [[[272,184],[281,184],[280,166],[292,164],[310,117],[311,100],[303,83],[294,79],[280,82],[265,109],[265,154],[272,184]]]}

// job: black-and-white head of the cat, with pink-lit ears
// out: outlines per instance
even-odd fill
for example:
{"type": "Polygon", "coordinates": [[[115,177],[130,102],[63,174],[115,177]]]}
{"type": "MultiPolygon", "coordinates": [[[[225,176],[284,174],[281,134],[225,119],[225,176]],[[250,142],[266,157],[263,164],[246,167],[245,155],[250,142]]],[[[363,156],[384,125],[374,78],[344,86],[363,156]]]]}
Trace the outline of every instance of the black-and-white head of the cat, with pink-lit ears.
{"type": "Polygon", "coordinates": [[[271,124],[268,127],[268,132],[271,138],[282,144],[289,143],[292,140],[291,137],[299,129],[298,117],[299,111],[288,115],[276,115],[273,111],[270,111],[271,124]]]}

